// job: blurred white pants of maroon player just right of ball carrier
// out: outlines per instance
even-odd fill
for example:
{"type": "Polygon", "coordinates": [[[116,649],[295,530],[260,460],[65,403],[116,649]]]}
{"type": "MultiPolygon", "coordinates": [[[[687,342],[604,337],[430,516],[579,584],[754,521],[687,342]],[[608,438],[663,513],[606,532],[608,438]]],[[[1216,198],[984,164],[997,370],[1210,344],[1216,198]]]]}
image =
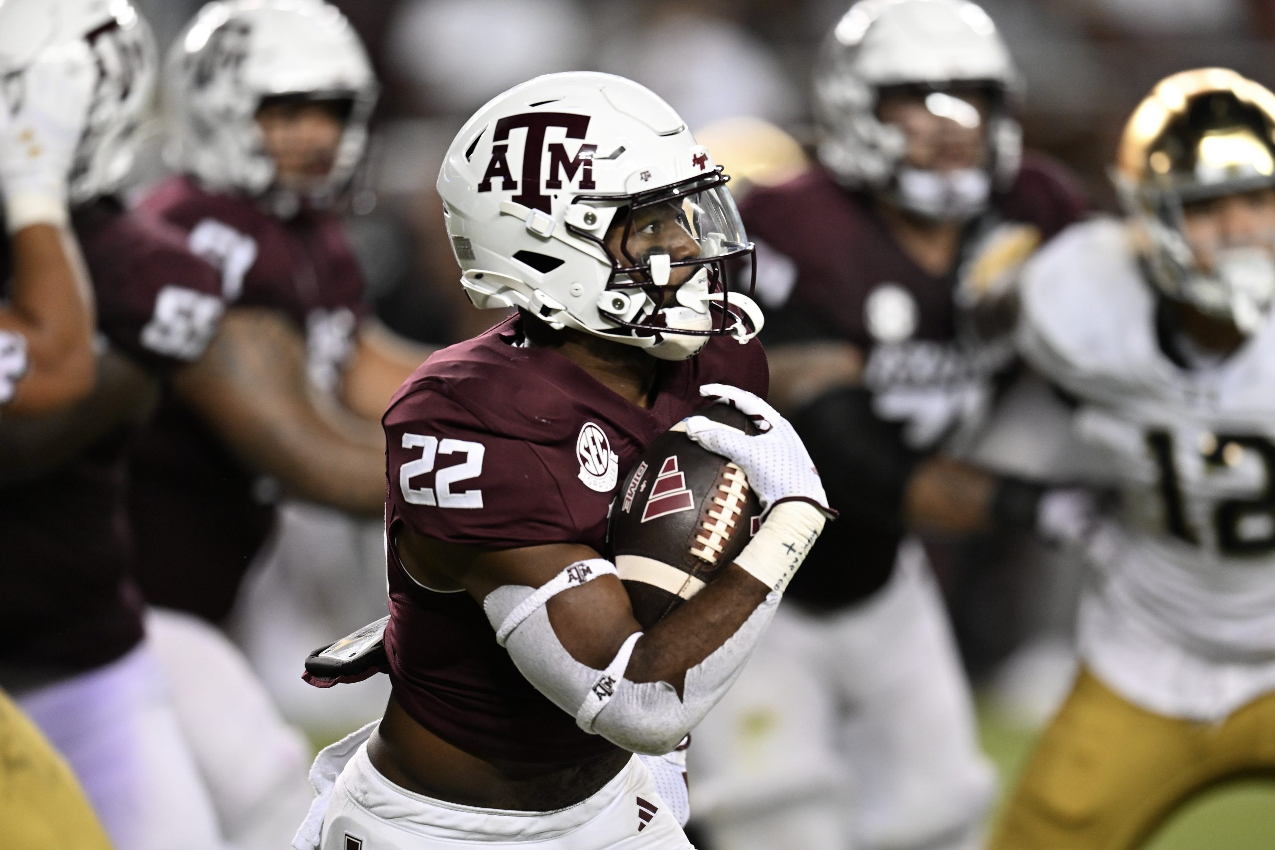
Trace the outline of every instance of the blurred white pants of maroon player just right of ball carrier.
{"type": "Polygon", "coordinates": [[[854,607],[782,604],[688,761],[717,850],[980,846],[994,771],[921,545],[854,607]]]}

